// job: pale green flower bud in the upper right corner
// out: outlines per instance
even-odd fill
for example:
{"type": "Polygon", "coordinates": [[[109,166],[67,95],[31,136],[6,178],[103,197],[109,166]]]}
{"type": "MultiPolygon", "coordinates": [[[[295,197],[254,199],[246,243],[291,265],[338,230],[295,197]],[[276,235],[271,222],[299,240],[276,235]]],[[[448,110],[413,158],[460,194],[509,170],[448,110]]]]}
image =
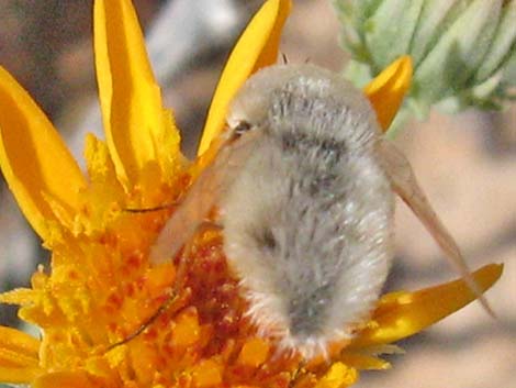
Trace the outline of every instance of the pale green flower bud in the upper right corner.
{"type": "Polygon", "coordinates": [[[406,107],[426,118],[500,108],[516,86],[516,0],[333,0],[351,54],[346,76],[361,87],[401,55],[414,79],[406,107]]]}

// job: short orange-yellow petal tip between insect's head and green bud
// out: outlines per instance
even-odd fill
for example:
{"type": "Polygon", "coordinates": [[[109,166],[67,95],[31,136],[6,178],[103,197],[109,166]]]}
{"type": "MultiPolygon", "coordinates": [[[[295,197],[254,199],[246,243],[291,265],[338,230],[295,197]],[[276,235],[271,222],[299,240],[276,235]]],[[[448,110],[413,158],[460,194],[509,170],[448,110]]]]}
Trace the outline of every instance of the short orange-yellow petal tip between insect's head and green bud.
{"type": "Polygon", "coordinates": [[[412,73],[412,59],[405,55],[389,65],[363,88],[383,131],[391,125],[411,87],[412,73]]]}

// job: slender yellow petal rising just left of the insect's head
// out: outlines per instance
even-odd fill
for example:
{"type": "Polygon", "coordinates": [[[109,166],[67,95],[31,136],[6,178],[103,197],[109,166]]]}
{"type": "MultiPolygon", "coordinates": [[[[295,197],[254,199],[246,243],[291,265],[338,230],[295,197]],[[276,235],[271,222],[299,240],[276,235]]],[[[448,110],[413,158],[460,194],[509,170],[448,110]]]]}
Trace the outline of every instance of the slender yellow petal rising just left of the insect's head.
{"type": "Polygon", "coordinates": [[[221,133],[227,107],[246,79],[276,63],[281,30],[291,5],[291,0],[268,0],[242,34],[213,95],[198,155],[203,154],[221,133]]]}

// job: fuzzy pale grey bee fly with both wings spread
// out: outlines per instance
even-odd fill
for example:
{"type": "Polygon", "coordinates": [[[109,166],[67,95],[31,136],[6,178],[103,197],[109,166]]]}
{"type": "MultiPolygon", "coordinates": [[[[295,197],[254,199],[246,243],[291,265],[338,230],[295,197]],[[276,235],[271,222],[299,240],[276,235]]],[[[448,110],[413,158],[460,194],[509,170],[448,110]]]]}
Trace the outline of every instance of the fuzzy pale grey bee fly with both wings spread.
{"type": "Polygon", "coordinates": [[[393,192],[480,296],[408,163],[340,76],[309,64],[262,69],[234,99],[227,125],[150,259],[173,257],[217,206],[249,314],[280,348],[325,354],[367,318],[393,256],[393,192]]]}

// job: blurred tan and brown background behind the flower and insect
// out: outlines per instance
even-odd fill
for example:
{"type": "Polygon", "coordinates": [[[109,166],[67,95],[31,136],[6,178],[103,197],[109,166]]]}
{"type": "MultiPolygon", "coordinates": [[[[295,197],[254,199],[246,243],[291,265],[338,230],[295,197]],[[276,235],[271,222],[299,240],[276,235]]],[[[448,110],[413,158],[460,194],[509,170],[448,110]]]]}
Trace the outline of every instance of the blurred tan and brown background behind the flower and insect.
{"type": "MultiPolygon", "coordinates": [[[[260,0],[134,0],[148,51],[194,155],[206,108],[227,54],[260,0]]],[[[1,0],[0,65],[48,114],[78,158],[87,132],[101,136],[91,47],[91,0],[1,0]]],[[[283,35],[290,62],[339,71],[345,53],[327,0],[296,0],[283,35]]],[[[437,212],[471,267],[504,262],[487,293],[493,320],[473,303],[400,345],[388,373],[363,373],[359,387],[516,387],[516,107],[501,113],[433,112],[396,142],[406,152],[437,212]]],[[[433,240],[403,203],[397,206],[395,264],[388,290],[418,289],[456,278],[433,240]]],[[[27,286],[48,254],[0,185],[0,288],[27,286]]],[[[1,307],[0,323],[16,325],[1,307]]]]}

